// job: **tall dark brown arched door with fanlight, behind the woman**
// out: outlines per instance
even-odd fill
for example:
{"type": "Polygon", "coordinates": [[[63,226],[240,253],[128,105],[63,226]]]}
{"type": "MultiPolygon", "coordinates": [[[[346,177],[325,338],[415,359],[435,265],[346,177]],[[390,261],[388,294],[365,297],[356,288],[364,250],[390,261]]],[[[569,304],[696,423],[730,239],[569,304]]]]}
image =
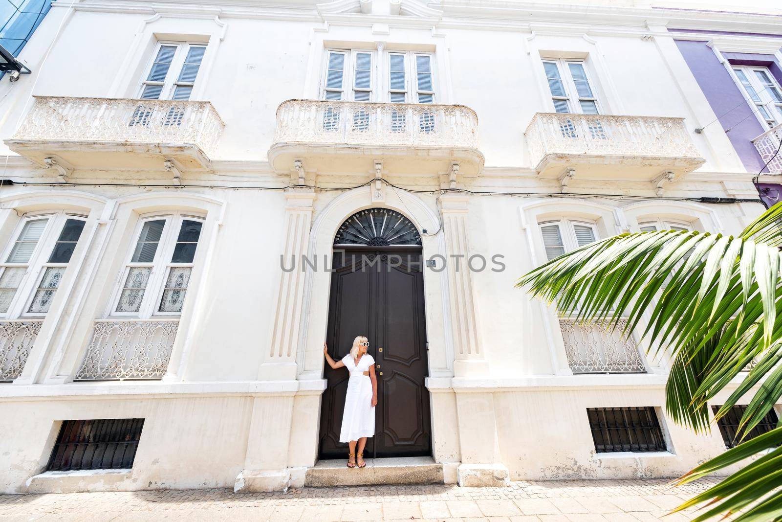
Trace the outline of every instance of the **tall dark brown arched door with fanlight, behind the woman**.
{"type": "MultiPolygon", "coordinates": [[[[388,209],[353,214],[337,232],[328,306],[329,354],[343,358],[357,335],[375,358],[378,406],[375,437],[365,457],[432,454],[421,238],[414,225],[388,209]]],[[[339,442],[346,369],[326,365],[321,404],[321,459],[344,459],[339,442]]]]}

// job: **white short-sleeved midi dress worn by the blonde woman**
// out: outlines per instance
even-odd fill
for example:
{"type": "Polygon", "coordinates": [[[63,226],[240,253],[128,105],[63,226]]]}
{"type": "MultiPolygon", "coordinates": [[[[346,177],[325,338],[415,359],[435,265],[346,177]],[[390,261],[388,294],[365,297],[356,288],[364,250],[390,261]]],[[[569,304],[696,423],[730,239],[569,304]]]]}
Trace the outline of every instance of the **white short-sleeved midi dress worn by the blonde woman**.
{"type": "Polygon", "coordinates": [[[345,396],[345,412],[343,427],[339,431],[340,442],[357,441],[361,437],[375,436],[375,406],[372,406],[372,381],[364,375],[369,367],[375,364],[375,359],[364,354],[353,363],[350,354],[343,357],[343,363],[350,372],[345,396]]]}

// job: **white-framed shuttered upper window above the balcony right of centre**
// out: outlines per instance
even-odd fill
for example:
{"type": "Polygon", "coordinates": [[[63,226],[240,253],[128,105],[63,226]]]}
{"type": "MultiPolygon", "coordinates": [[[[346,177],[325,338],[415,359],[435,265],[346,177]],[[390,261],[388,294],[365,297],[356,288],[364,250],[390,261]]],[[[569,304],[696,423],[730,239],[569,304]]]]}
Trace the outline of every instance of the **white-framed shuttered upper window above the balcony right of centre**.
{"type": "Polygon", "coordinates": [[[543,58],[543,73],[549,88],[551,105],[557,113],[599,114],[594,82],[583,59],[543,58]]]}

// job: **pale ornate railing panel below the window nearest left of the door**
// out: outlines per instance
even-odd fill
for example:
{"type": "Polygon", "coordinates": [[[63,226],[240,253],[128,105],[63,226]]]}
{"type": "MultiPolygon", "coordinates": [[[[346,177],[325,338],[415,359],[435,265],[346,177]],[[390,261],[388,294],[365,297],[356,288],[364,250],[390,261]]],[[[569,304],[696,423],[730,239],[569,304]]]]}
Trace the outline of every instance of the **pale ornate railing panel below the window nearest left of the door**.
{"type": "Polygon", "coordinates": [[[162,379],[178,326],[178,319],[95,321],[74,380],[162,379]]]}

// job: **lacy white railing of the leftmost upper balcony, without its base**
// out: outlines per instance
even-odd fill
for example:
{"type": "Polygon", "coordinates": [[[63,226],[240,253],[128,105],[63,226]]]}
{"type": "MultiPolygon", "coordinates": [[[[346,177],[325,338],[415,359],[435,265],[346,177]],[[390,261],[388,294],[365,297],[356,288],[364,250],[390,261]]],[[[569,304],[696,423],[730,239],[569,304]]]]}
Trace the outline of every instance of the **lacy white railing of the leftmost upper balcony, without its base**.
{"type": "Polygon", "coordinates": [[[225,126],[209,102],[34,98],[12,139],[192,143],[211,157],[225,126]]]}

